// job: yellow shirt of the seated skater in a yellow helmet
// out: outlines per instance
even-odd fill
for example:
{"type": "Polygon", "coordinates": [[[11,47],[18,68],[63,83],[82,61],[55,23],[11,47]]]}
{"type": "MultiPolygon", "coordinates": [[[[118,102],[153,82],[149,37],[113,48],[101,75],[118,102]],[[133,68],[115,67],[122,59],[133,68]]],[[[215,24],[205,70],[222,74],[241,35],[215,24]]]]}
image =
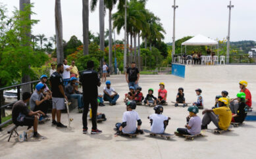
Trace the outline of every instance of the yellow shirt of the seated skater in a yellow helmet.
{"type": "Polygon", "coordinates": [[[213,112],[218,115],[218,126],[220,129],[228,129],[232,120],[232,112],[227,106],[214,108],[213,112]]]}

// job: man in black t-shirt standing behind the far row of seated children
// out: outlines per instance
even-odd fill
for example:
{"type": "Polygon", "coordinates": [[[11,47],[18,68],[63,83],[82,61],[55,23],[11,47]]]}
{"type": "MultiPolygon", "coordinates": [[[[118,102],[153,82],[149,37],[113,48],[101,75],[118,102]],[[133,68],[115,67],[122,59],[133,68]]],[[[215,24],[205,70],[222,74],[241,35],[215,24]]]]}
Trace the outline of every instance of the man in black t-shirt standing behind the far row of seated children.
{"type": "Polygon", "coordinates": [[[135,62],[132,62],[131,67],[127,69],[125,74],[126,81],[128,83],[128,87],[133,86],[136,90],[139,85],[140,72],[138,68],[136,68],[135,62]]]}

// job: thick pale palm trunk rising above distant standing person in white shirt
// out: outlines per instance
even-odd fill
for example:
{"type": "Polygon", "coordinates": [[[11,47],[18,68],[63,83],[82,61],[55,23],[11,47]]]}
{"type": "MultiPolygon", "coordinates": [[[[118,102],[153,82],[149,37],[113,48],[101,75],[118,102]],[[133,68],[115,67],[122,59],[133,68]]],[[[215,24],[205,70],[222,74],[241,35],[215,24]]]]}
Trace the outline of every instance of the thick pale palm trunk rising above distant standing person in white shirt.
{"type": "MultiPolygon", "coordinates": [[[[99,0],[99,47],[104,52],[105,37],[104,37],[104,0],[99,0]]],[[[101,73],[104,61],[104,55],[101,58],[101,73]]]]}

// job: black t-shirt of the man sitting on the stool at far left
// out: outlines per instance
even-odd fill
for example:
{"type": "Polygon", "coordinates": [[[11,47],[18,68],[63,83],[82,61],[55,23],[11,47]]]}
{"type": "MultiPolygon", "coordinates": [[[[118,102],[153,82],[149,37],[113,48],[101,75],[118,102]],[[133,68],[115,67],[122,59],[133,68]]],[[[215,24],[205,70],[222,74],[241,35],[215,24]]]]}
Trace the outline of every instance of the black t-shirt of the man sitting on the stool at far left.
{"type": "Polygon", "coordinates": [[[28,116],[28,113],[30,112],[30,110],[22,100],[15,102],[15,104],[13,105],[12,118],[14,124],[17,124],[17,118],[20,112],[25,116],[28,116]]]}

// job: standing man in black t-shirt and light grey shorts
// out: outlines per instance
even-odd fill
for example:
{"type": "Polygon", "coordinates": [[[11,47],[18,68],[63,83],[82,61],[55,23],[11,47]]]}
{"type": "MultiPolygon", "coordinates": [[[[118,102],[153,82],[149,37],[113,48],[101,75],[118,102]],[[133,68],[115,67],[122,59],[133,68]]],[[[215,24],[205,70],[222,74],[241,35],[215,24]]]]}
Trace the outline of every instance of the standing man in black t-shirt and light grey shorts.
{"type": "Polygon", "coordinates": [[[64,93],[63,78],[61,76],[63,70],[63,64],[58,64],[57,72],[51,74],[49,82],[51,85],[51,91],[53,92],[53,110],[51,112],[53,118],[52,125],[57,125],[59,128],[66,128],[66,125],[61,124],[61,110],[65,109],[64,99],[68,101],[68,98],[64,93]],[[57,122],[55,120],[55,116],[57,116],[57,122]]]}

